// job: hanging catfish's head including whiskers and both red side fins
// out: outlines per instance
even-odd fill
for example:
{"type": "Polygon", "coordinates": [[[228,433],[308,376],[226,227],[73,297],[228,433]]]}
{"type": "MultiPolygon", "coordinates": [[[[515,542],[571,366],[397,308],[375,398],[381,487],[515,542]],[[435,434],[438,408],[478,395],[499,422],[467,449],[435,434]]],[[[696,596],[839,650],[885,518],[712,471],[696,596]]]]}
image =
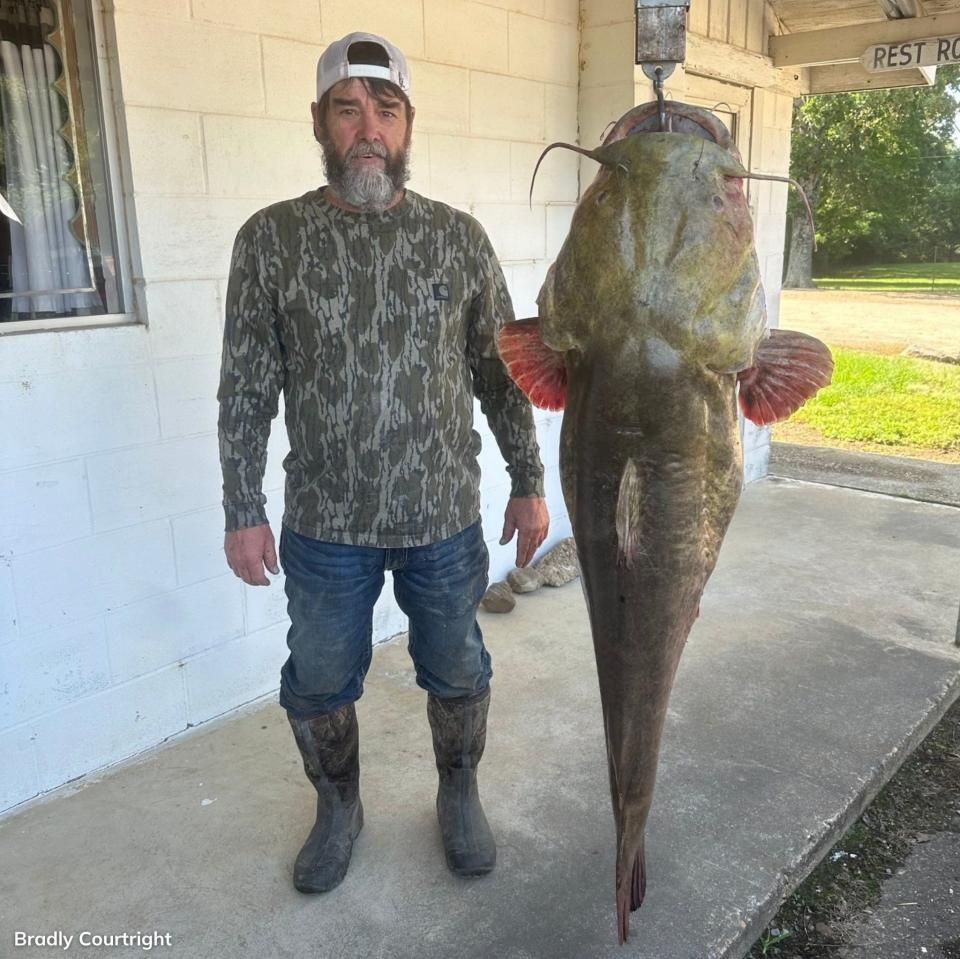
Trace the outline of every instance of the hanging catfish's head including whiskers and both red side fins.
{"type": "MultiPolygon", "coordinates": [[[[667,101],[628,111],[595,150],[554,143],[600,164],[537,297],[539,316],[508,324],[500,354],[531,400],[560,410],[568,367],[590,355],[609,369],[640,357],[737,374],[744,415],[785,419],[830,382],[829,350],[768,330],[744,180],[748,172],[712,113],[667,101]]],[[[530,186],[531,196],[533,184],[530,186]]],[[[807,203],[807,214],[813,213],[807,203]]]]}

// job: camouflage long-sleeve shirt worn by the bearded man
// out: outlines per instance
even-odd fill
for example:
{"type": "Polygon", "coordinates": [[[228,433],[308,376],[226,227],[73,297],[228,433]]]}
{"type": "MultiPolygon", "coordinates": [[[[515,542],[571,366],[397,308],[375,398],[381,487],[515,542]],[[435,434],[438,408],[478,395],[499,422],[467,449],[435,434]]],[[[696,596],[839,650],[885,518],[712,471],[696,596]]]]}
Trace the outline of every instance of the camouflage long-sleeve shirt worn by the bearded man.
{"type": "Polygon", "coordinates": [[[234,245],[217,394],[227,530],[266,522],[281,390],[283,521],[305,536],[415,546],[474,522],[474,394],[512,495],[543,495],[532,411],[497,353],[513,310],[483,228],[409,190],[383,214],[323,192],[261,210],[234,245]]]}

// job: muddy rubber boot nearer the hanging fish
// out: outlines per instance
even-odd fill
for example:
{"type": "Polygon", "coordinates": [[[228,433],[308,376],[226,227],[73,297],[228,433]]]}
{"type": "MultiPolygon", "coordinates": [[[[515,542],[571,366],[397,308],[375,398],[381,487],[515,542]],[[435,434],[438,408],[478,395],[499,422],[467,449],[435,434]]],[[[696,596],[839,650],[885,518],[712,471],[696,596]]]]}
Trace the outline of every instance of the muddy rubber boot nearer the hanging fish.
{"type": "Polygon", "coordinates": [[[427,698],[440,787],[437,818],[447,865],[458,876],[483,876],[497,861],[497,845],[480,805],[477,765],[487,739],[490,689],[462,699],[427,698]]]}

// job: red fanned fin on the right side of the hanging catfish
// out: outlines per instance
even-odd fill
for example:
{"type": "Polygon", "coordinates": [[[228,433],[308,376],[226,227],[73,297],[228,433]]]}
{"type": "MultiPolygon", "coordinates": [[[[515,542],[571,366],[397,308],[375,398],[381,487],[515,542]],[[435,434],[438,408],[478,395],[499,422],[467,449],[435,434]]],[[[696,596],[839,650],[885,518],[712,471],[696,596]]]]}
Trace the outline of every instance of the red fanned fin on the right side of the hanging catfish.
{"type": "Polygon", "coordinates": [[[830,350],[813,336],[770,330],[761,340],[753,366],[737,377],[740,409],[757,426],[785,420],[833,375],[830,350]]]}

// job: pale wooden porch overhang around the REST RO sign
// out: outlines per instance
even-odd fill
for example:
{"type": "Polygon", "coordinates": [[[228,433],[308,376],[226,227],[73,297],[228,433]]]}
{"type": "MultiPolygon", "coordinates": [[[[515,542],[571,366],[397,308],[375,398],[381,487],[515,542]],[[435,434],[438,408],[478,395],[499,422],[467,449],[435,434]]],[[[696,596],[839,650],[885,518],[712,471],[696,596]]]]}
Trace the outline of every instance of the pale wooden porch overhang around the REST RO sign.
{"type": "Polygon", "coordinates": [[[772,65],[805,93],[932,84],[936,67],[871,73],[860,58],[874,44],[960,34],[960,0],[767,2],[779,27],[769,38],[772,65]]]}

